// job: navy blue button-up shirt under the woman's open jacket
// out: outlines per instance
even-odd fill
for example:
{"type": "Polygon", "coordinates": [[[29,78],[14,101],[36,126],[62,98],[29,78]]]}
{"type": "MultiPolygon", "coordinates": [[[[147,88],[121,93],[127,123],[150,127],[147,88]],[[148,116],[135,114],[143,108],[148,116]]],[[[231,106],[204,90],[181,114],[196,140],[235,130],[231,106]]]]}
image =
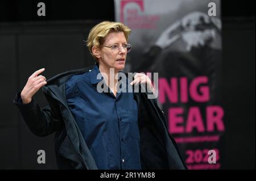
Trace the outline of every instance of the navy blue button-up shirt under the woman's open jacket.
{"type": "MultiPolygon", "coordinates": [[[[98,169],[141,169],[133,92],[98,92],[98,66],[66,82],[68,106],[98,169]]],[[[126,86],[131,86],[126,81],[126,86]]],[[[109,88],[108,88],[109,89],[109,88]]],[[[109,89],[110,90],[110,89],[109,89]]]]}

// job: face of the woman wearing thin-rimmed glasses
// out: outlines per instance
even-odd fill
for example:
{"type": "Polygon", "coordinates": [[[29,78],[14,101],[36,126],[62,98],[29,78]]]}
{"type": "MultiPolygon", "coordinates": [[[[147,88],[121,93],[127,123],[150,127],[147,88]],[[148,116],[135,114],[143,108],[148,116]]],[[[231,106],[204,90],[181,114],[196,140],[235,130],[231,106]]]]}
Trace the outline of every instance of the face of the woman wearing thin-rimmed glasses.
{"type": "Polygon", "coordinates": [[[100,47],[98,58],[100,65],[107,69],[114,68],[117,71],[125,68],[127,50],[122,47],[125,44],[127,44],[127,41],[123,32],[109,33],[105,37],[104,44],[100,47]],[[116,47],[115,50],[112,47],[113,45],[116,47]]]}

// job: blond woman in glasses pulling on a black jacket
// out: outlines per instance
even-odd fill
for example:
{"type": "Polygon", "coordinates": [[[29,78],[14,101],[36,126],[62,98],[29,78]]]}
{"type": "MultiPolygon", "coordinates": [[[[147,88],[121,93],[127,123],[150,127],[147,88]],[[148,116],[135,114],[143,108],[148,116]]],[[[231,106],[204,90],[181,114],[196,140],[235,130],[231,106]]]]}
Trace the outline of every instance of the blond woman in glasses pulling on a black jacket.
{"type": "Polygon", "coordinates": [[[186,168],[156,100],[147,99],[148,92],[118,91],[120,82],[128,89],[141,83],[152,87],[144,74],[135,74],[133,81],[118,79],[131,50],[130,32],[122,23],[97,24],[87,41],[95,66],[47,81],[40,69],[16,95],[14,102],[34,134],[56,132],[59,169],[186,168]],[[99,91],[102,86],[108,91],[99,91]],[[43,110],[32,99],[40,87],[49,102],[43,110]]]}

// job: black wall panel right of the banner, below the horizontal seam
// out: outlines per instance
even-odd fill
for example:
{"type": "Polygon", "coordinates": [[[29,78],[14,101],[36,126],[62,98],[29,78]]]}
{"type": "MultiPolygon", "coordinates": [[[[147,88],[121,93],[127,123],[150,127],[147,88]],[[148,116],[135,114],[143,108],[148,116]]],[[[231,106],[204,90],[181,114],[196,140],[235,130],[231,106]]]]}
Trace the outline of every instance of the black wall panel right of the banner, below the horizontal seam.
{"type": "Polygon", "coordinates": [[[255,169],[255,21],[223,23],[222,168],[255,169]]]}

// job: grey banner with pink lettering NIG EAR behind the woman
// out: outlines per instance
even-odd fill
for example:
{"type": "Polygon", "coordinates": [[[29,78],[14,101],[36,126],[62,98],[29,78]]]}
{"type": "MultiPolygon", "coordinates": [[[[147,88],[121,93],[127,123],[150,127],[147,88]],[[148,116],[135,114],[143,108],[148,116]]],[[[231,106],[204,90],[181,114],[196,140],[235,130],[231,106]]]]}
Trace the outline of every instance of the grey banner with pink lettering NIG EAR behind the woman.
{"type": "Polygon", "coordinates": [[[127,72],[158,73],[158,103],[188,169],[221,168],[221,3],[115,0],[131,28],[127,72]]]}

